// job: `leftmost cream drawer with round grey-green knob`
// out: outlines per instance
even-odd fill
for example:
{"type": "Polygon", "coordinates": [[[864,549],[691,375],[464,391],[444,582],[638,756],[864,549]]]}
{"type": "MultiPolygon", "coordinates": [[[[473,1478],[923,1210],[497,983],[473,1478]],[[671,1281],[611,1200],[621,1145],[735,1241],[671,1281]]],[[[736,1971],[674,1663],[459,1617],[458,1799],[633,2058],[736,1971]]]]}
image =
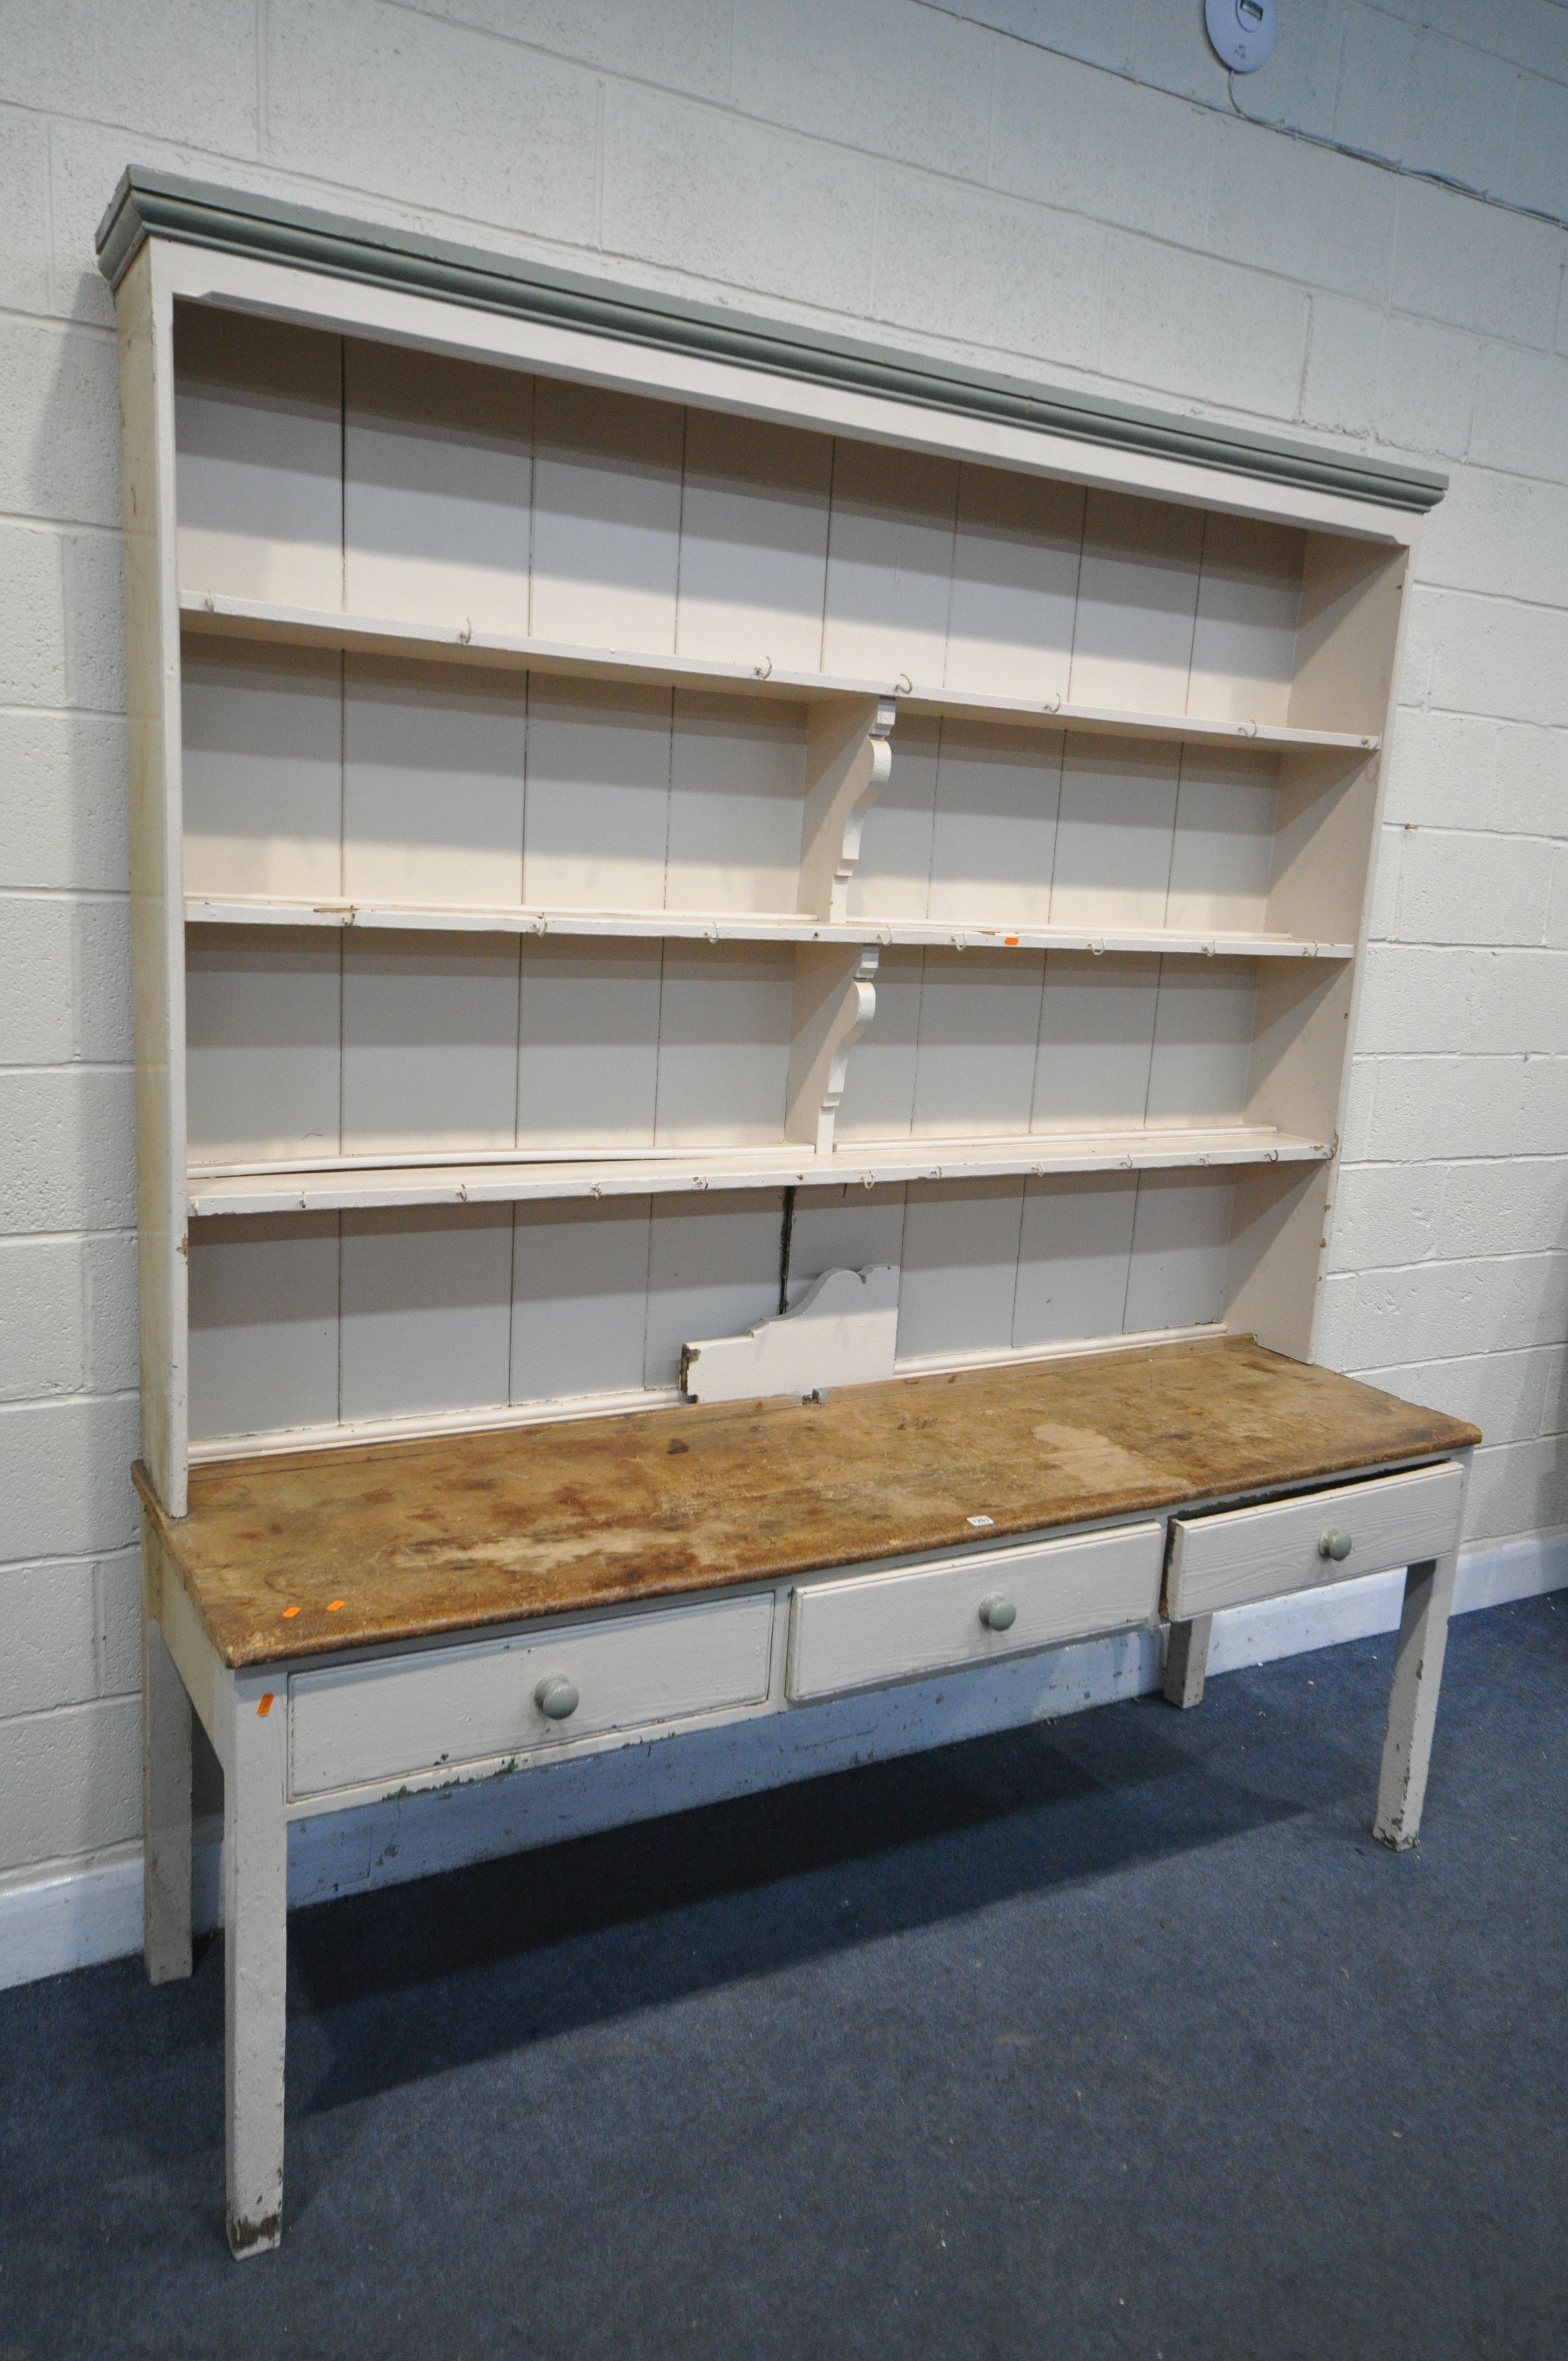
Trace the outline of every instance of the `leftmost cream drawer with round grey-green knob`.
{"type": "Polygon", "coordinates": [[[538,1754],[607,1731],[642,1731],[767,1698],[772,1594],[706,1598],[621,1615],[295,1672],[288,1683],[288,1792],[418,1778],[496,1754],[538,1754]],[[550,1719],[541,1681],[579,1702],[550,1719]]]}

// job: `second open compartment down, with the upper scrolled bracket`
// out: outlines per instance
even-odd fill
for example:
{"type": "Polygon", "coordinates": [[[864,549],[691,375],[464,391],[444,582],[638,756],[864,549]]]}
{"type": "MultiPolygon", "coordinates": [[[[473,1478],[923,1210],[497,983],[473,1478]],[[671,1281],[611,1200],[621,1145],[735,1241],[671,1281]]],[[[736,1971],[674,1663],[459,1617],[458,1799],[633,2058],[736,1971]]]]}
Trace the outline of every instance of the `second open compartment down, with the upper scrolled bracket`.
{"type": "Polygon", "coordinates": [[[1365,756],[194,640],[205,926],[1348,959],[1365,756]]]}

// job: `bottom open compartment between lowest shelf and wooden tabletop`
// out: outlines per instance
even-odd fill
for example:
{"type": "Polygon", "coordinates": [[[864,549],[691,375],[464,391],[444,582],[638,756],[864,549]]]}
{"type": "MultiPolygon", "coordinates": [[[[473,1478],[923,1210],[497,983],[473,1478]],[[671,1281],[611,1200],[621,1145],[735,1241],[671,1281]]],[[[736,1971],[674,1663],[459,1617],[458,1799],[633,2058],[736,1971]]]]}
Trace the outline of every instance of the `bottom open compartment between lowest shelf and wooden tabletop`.
{"type": "MultiPolygon", "coordinates": [[[[678,1402],[690,1343],[801,1308],[831,1270],[897,1270],[900,1374],[1244,1327],[1256,1254],[1289,1240],[1289,1209],[1318,1235],[1322,1164],[909,1185],[838,1166],[834,1180],[196,1221],[194,1447],[312,1450],[678,1402]]],[[[1266,1313],[1275,1341],[1306,1339],[1311,1299],[1266,1313]]]]}

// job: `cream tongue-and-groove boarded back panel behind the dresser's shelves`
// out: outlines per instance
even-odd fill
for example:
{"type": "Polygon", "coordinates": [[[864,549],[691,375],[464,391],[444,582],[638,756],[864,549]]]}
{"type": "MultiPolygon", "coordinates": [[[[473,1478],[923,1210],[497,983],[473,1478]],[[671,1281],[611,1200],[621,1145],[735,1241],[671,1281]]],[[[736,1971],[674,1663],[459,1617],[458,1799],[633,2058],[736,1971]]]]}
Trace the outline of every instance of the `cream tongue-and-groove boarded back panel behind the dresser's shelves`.
{"type": "Polygon", "coordinates": [[[213,307],[177,309],[175,357],[191,1169],[798,1138],[822,682],[900,699],[836,1152],[945,1143],[947,1173],[803,1185],[789,1218],[723,1169],[208,1214],[208,1454],[671,1400],[685,1341],[779,1308],[786,1230],[789,1301],[893,1261],[900,1362],[940,1367],[1226,1322],[1320,1218],[1313,1162],[1157,1159],[1332,1145],[1386,548],[213,307]],[[333,616],[432,645],[331,645],[333,616]],[[486,637],[744,680],[475,661],[486,637]],[[963,1169],[1093,1138],[1117,1169],[963,1169]]]}

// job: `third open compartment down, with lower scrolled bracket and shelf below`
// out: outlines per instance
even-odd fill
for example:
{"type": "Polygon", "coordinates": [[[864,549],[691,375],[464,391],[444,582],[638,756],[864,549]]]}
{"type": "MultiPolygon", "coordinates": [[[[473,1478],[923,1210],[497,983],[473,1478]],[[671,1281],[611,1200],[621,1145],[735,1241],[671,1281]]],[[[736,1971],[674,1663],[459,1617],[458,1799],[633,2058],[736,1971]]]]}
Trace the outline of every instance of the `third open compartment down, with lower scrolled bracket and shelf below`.
{"type": "Polygon", "coordinates": [[[1148,949],[194,926],[191,1209],[1322,1159],[1313,1074],[1348,975],[1148,949]]]}

